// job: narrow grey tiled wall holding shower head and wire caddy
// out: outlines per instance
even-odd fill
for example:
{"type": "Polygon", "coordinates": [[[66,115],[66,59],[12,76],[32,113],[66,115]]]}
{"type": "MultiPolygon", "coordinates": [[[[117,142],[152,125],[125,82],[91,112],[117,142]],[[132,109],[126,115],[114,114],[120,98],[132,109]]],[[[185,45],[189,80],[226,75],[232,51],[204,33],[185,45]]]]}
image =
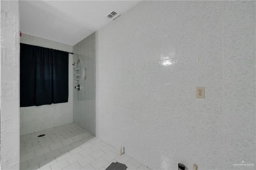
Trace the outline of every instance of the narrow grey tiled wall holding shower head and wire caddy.
{"type": "MultiPolygon", "coordinates": [[[[80,91],[73,87],[73,120],[74,123],[86,128],[94,135],[96,132],[95,50],[95,33],[73,46],[73,62],[80,59],[81,69],[84,69],[81,81],[73,82],[74,87],[81,85],[80,91]]],[[[73,66],[73,68],[76,67],[77,65],[73,66]]]]}

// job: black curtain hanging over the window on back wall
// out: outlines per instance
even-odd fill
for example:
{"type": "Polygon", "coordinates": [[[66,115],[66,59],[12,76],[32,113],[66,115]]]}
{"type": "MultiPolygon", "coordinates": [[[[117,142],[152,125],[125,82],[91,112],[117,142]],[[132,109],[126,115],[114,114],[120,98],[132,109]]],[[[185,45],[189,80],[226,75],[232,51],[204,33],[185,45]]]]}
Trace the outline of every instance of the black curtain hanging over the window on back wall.
{"type": "Polygon", "coordinates": [[[20,107],[68,102],[68,52],[20,43],[20,107]]]}

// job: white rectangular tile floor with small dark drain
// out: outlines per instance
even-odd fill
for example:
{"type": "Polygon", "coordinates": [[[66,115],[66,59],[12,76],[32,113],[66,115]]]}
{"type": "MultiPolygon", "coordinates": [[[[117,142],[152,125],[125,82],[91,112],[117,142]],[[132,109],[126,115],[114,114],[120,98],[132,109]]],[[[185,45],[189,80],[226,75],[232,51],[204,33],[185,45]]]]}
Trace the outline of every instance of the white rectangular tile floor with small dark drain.
{"type": "Polygon", "coordinates": [[[20,136],[21,170],[105,170],[112,162],[150,170],[74,123],[20,136]]]}

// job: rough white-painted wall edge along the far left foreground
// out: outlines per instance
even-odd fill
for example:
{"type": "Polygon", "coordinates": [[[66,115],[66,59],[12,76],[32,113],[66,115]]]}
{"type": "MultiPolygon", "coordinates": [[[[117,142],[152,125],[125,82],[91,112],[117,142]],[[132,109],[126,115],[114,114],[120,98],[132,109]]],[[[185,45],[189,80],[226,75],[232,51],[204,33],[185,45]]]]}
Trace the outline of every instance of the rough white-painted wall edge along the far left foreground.
{"type": "Polygon", "coordinates": [[[19,129],[19,2],[1,1],[1,162],[0,169],[17,170],[20,167],[19,129]]]}

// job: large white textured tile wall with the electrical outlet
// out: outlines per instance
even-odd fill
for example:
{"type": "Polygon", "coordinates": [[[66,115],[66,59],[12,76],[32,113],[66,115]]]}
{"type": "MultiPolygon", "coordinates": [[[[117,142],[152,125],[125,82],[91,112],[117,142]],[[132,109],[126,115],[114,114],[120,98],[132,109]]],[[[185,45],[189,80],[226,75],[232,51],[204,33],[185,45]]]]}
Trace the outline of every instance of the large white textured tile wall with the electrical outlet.
{"type": "MultiPolygon", "coordinates": [[[[255,11],[255,1],[143,1],[98,30],[96,135],[153,169],[255,165],[255,11]]],[[[86,114],[74,120],[94,123],[86,114]]]]}

